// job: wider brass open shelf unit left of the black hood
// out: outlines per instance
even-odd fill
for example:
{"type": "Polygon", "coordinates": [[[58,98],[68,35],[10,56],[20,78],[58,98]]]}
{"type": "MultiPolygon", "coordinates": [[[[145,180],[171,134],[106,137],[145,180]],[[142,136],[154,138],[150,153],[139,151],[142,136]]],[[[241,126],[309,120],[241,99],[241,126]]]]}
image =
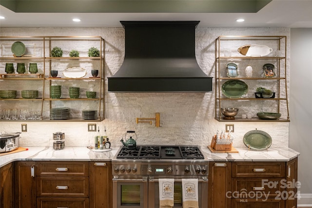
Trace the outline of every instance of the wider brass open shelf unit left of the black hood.
{"type": "MultiPolygon", "coordinates": [[[[20,61],[24,61],[26,64],[28,62],[37,62],[40,63],[40,65],[42,65],[42,68],[40,67],[40,74],[0,74],[0,80],[26,80],[26,81],[30,81],[29,83],[31,83],[31,81],[34,80],[39,80],[42,82],[34,82],[34,87],[36,87],[36,89],[40,89],[42,95],[42,98],[37,98],[37,99],[24,99],[24,98],[15,98],[15,99],[4,99],[1,98],[1,103],[4,102],[4,105],[10,105],[10,108],[17,108],[19,109],[18,104],[14,104],[14,102],[12,101],[39,101],[41,103],[39,103],[39,105],[41,105],[41,107],[38,109],[39,111],[41,111],[41,117],[46,117],[47,114],[49,114],[49,109],[54,108],[56,106],[56,102],[66,102],[68,104],[68,102],[70,101],[83,101],[81,106],[83,108],[83,106],[85,106],[86,108],[89,106],[89,104],[92,103],[92,105],[94,106],[94,109],[96,109],[98,111],[98,119],[95,120],[84,120],[82,118],[70,118],[70,119],[65,119],[65,120],[50,120],[50,119],[43,119],[43,120],[26,120],[28,121],[79,121],[79,122],[85,122],[85,121],[94,121],[94,122],[98,122],[98,121],[102,121],[104,120],[105,116],[104,116],[104,39],[100,36],[1,36],[0,37],[0,44],[4,44],[4,45],[8,45],[8,49],[5,48],[5,52],[1,51],[1,57],[0,57],[0,63],[2,63],[2,65],[6,62],[13,62],[13,63],[17,63],[20,61]],[[25,54],[22,55],[22,57],[14,57],[13,54],[11,54],[11,46],[15,41],[21,41],[24,42],[24,44],[27,47],[28,45],[34,45],[34,47],[32,47],[31,49],[34,49],[32,51],[29,51],[31,53],[29,54],[25,54]],[[54,46],[56,46],[58,43],[60,43],[62,45],[70,45],[70,44],[74,44],[77,45],[77,50],[78,51],[83,51],[81,55],[81,57],[69,57],[68,54],[63,54],[63,57],[50,57],[51,55],[51,51],[53,49],[54,46]],[[83,46],[79,48],[79,45],[83,46]],[[88,57],[87,55],[87,48],[89,47],[97,47],[100,51],[99,57],[88,57]],[[36,51],[36,48],[39,48],[40,50],[36,51]],[[80,50],[79,50],[80,49],[80,50]],[[70,63],[83,63],[85,65],[87,65],[87,67],[93,67],[93,65],[97,65],[97,69],[98,69],[98,76],[97,77],[93,77],[92,75],[88,76],[88,77],[81,77],[81,78],[68,78],[68,77],[51,77],[50,76],[50,71],[53,69],[57,69],[59,70],[58,64],[70,64],[70,63]],[[90,80],[90,81],[95,81],[96,83],[96,88],[94,89],[94,91],[97,92],[97,96],[98,98],[78,98],[78,99],[72,99],[72,98],[61,98],[61,99],[52,99],[49,98],[49,91],[47,90],[47,88],[49,88],[49,86],[51,86],[53,84],[53,82],[56,82],[58,80],[62,80],[62,81],[71,81],[71,80],[75,80],[78,82],[79,84],[79,80],[81,80],[81,82],[83,80],[90,80]],[[8,101],[7,103],[5,103],[6,101],[8,101]],[[90,102],[88,104],[88,101],[90,102]],[[49,107],[46,108],[44,107],[45,104],[48,102],[49,107]],[[11,105],[12,104],[12,105],[11,105]],[[97,106],[98,105],[98,106],[97,106]]],[[[66,50],[65,50],[66,51],[66,50]]],[[[1,68],[4,72],[4,67],[1,68]]],[[[27,73],[27,72],[26,72],[27,73]]],[[[9,83],[7,83],[7,81],[3,82],[5,83],[5,86],[9,87],[9,83]]],[[[20,82],[21,83],[21,82],[20,82]]],[[[28,83],[24,83],[22,82],[23,85],[25,86],[30,86],[33,83],[31,83],[30,85],[28,85],[28,83]]],[[[2,86],[1,86],[2,87],[2,86]]],[[[84,90],[89,90],[90,87],[86,87],[86,89],[84,90]]],[[[1,89],[3,90],[3,89],[1,89]]],[[[81,94],[81,93],[80,93],[81,94]]],[[[68,96],[68,95],[67,95],[68,96]]],[[[71,107],[70,103],[68,104],[69,108],[71,107]]],[[[5,108],[5,107],[4,107],[5,108]]],[[[74,110],[74,108],[73,108],[74,110]]],[[[80,109],[77,109],[76,111],[79,111],[80,109]]],[[[11,120],[3,120],[3,121],[11,121],[11,120]]],[[[24,121],[24,120],[12,120],[12,121],[24,121]]]]}

